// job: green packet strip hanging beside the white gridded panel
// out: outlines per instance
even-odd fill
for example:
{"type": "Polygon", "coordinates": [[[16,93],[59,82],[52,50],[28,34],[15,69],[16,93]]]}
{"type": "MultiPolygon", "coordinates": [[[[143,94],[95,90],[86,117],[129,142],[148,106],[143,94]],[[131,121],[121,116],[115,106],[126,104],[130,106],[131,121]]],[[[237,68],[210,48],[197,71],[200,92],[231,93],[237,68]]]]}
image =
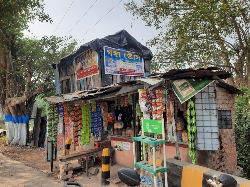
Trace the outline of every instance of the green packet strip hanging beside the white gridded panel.
{"type": "Polygon", "coordinates": [[[196,118],[194,101],[189,100],[187,106],[187,130],[188,130],[188,154],[192,158],[192,163],[196,164],[196,150],[195,150],[195,133],[196,133],[196,118]]]}

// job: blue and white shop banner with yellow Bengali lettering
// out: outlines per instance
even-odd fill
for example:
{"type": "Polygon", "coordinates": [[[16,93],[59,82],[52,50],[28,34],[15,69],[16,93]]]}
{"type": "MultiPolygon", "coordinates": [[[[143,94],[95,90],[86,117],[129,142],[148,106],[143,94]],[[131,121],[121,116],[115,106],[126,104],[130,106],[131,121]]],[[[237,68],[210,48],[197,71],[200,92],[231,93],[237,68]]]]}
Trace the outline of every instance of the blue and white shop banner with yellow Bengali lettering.
{"type": "Polygon", "coordinates": [[[143,58],[136,53],[104,46],[105,74],[144,76],[143,58]]]}

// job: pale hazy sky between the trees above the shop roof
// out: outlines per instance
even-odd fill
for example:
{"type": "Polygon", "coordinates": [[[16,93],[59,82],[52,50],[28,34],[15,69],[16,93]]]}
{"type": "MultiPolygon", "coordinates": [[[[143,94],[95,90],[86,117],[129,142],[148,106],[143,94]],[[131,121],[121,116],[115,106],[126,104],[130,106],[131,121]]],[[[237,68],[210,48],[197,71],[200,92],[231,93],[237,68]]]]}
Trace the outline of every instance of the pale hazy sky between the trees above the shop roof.
{"type": "MultiPolygon", "coordinates": [[[[124,3],[128,0],[44,0],[45,13],[53,23],[35,20],[29,23],[26,36],[72,36],[81,44],[125,29],[140,43],[146,45],[157,35],[153,27],[127,12],[124,3]]],[[[136,0],[141,3],[142,0],[136,0]]]]}

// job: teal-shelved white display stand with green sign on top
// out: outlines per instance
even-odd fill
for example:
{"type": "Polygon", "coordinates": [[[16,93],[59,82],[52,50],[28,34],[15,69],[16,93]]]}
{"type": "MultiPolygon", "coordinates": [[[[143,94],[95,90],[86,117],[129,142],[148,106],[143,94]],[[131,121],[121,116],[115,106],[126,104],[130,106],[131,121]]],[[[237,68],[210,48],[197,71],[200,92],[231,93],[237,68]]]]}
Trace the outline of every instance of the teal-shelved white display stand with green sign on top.
{"type": "Polygon", "coordinates": [[[166,166],[166,140],[164,130],[164,120],[142,120],[142,135],[132,138],[134,168],[140,168],[141,182],[147,186],[163,186],[161,172],[165,173],[165,186],[167,183],[166,166]],[[147,136],[145,136],[147,135],[147,136]],[[149,136],[148,136],[149,135],[149,136]],[[151,137],[151,136],[154,137],[151,137]],[[143,146],[143,160],[136,162],[135,142],[141,142],[143,146]],[[163,155],[161,155],[161,146],[163,146],[163,155]],[[163,157],[163,159],[162,159],[163,157]],[[164,162],[162,167],[162,161],[164,162]]]}

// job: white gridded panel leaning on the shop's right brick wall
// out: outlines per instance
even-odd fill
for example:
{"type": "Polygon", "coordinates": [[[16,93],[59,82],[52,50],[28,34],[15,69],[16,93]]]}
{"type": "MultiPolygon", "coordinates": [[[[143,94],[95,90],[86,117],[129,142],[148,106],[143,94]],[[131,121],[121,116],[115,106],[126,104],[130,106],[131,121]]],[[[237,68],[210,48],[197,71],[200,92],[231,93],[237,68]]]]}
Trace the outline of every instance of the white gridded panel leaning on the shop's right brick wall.
{"type": "Polygon", "coordinates": [[[215,98],[215,83],[195,95],[198,150],[219,149],[219,128],[215,98]]]}

